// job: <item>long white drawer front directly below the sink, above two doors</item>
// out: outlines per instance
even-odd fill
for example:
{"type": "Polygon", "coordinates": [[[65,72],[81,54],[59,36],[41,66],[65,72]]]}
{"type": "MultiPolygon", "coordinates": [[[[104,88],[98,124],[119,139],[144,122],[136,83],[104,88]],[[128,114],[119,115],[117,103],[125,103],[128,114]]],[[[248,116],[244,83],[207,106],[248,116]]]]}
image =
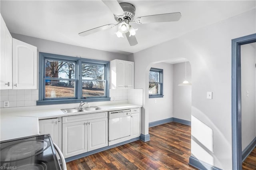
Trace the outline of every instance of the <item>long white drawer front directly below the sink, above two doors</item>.
{"type": "Polygon", "coordinates": [[[87,121],[87,120],[91,120],[91,119],[99,119],[99,118],[105,118],[105,117],[108,117],[108,112],[90,113],[90,114],[75,115],[75,116],[65,116],[65,117],[62,117],[62,123],[87,121]]]}

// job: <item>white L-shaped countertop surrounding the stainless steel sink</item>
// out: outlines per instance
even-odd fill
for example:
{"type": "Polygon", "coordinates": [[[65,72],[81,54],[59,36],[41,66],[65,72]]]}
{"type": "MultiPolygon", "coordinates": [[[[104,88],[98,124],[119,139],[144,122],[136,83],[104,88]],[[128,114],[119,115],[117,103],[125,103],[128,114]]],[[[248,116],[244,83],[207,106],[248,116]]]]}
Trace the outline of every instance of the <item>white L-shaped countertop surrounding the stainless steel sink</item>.
{"type": "Polygon", "coordinates": [[[0,140],[8,140],[20,138],[24,136],[32,136],[39,134],[39,119],[50,119],[56,117],[83,115],[91,113],[99,113],[106,111],[118,111],[124,109],[133,109],[142,107],[140,105],[132,105],[127,101],[116,102],[94,102],[90,106],[98,106],[102,110],[86,111],[80,113],[63,113],[60,109],[71,109],[78,107],[79,103],[66,105],[47,105],[33,107],[16,107],[16,108],[1,108],[0,121],[1,133],[0,140]],[[98,105],[101,104],[101,105],[98,105]]]}

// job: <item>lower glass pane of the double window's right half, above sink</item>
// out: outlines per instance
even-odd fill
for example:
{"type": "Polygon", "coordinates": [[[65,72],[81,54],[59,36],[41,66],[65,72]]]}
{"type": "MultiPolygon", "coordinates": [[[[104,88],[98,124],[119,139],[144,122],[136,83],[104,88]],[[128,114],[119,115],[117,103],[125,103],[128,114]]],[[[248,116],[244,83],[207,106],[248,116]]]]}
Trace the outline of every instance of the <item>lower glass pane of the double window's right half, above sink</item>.
{"type": "Polygon", "coordinates": [[[82,88],[82,97],[105,96],[104,81],[83,81],[82,88]]]}

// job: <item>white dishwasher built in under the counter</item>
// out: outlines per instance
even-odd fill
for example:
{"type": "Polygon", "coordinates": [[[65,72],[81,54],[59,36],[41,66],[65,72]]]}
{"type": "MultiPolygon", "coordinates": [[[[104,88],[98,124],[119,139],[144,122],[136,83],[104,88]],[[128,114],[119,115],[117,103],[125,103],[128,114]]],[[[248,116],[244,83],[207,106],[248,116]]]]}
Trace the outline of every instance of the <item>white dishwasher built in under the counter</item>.
{"type": "Polygon", "coordinates": [[[131,110],[108,112],[108,145],[130,140],[131,110]]]}

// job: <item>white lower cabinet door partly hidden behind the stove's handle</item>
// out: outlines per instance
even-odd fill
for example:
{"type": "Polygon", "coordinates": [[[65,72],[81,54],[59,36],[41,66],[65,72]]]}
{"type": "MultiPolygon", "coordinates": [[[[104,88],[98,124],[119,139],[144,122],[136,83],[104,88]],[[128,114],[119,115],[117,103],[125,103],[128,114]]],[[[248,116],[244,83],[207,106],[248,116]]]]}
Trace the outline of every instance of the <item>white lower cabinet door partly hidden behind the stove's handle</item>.
{"type": "MultiPolygon", "coordinates": [[[[58,118],[39,121],[40,134],[50,134],[52,141],[58,145],[58,118]]],[[[60,147],[60,146],[59,146],[60,147]]]]}

